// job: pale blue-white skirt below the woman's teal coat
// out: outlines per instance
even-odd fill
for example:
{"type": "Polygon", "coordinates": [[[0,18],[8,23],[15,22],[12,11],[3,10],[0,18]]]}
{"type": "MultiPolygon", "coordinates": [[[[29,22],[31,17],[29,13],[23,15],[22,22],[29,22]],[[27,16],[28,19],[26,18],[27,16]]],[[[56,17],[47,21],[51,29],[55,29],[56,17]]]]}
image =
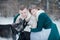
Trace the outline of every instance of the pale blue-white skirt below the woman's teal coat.
{"type": "Polygon", "coordinates": [[[49,34],[51,32],[51,29],[43,29],[40,32],[32,32],[31,33],[31,40],[48,40],[49,34]]]}

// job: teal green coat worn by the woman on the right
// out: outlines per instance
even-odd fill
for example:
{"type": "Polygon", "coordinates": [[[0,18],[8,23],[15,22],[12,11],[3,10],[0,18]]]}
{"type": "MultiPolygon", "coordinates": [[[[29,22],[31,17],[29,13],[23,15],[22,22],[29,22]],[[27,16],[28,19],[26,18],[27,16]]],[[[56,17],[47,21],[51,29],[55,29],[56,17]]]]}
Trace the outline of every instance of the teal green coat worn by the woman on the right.
{"type": "Polygon", "coordinates": [[[46,15],[46,13],[41,13],[38,17],[37,28],[31,29],[31,32],[40,32],[42,28],[51,28],[48,40],[59,40],[59,33],[56,24],[54,24],[51,19],[46,15]]]}

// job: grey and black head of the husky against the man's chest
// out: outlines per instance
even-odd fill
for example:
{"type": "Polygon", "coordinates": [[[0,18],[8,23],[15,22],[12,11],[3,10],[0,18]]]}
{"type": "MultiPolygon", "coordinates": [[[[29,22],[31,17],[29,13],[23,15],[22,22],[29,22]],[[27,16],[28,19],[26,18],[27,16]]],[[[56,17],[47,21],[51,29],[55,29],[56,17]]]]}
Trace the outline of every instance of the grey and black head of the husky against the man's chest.
{"type": "Polygon", "coordinates": [[[27,25],[27,23],[24,21],[24,20],[22,20],[21,18],[19,19],[19,23],[14,23],[14,24],[12,24],[12,27],[16,30],[16,31],[18,31],[18,32],[21,32],[21,31],[23,31],[23,29],[25,28],[25,25],[27,25]],[[24,26],[23,26],[24,25],[24,26]]]}

